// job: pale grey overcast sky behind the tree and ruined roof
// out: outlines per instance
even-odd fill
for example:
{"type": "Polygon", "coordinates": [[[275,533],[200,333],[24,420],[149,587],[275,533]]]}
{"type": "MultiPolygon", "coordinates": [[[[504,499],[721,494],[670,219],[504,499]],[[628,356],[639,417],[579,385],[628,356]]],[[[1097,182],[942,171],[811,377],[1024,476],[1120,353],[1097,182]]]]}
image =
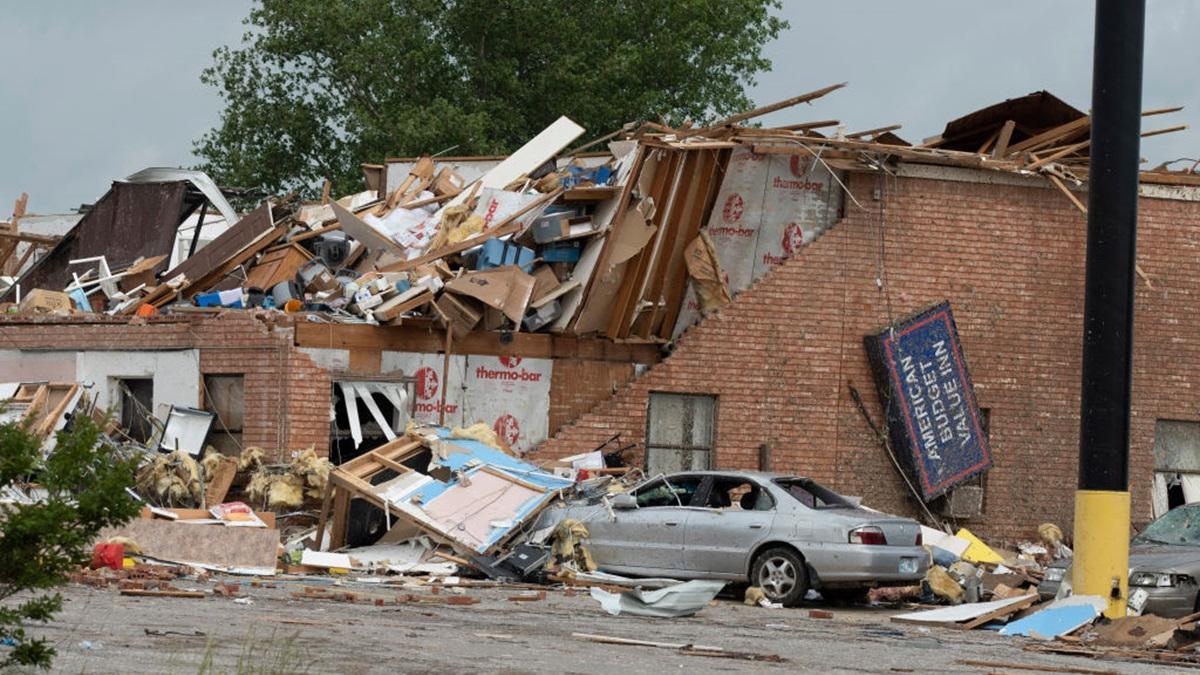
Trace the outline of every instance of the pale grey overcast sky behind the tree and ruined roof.
{"type": "MultiPolygon", "coordinates": [[[[835,118],[848,131],[902,124],[910,142],[947,120],[1042,89],[1087,109],[1090,0],[784,0],[792,28],[767,48],[760,104],[850,86],[766,121],[835,118]]],[[[1145,129],[1157,163],[1200,157],[1195,78],[1200,2],[1148,0],[1144,106],[1186,106],[1145,129]]],[[[190,166],[221,100],[199,82],[212,49],[240,37],[248,2],[8,0],[0,22],[0,217],[22,191],[31,213],[90,203],[148,166],[190,166]]],[[[589,130],[601,131],[601,130],[589,130]]]]}

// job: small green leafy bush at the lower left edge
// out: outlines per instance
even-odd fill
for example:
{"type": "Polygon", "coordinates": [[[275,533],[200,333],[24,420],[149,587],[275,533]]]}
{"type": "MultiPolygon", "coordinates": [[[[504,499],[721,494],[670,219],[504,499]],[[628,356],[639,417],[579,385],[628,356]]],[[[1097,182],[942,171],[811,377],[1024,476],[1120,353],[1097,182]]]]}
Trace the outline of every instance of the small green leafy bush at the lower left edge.
{"type": "Polygon", "coordinates": [[[50,667],[54,647],[24,625],[53,619],[62,597],[47,591],[90,560],[102,528],[137,514],[125,491],[133,464],[98,441],[96,423],[78,416],[43,461],[38,438],[19,424],[0,424],[0,494],[31,478],[47,492],[30,504],[0,503],[0,669],[50,667]]]}

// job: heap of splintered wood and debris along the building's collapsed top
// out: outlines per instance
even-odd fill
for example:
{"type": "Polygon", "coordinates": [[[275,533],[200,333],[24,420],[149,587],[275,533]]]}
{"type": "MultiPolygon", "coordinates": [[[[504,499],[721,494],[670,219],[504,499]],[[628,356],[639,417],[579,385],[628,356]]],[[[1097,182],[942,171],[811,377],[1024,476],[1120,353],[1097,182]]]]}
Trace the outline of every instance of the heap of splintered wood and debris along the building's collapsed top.
{"type": "MultiPolygon", "coordinates": [[[[720,307],[745,286],[731,288],[704,227],[719,192],[728,197],[722,180],[737,157],[791,156],[803,186],[811,171],[839,180],[838,171],[888,171],[896,161],[1042,174],[1079,204],[1064,181],[1086,178],[1090,118],[1046,92],[954,120],[920,145],[895,136],[899,125],[853,133],[838,120],[749,126],[841,86],[706,127],[629,124],[565,153],[583,129],[559,118],[498,162],[424,156],[394,187],[386,167],[365,165],[366,191],[332,199],[326,184],[318,203],[272,198],[242,217],[203,173],[145,169],[114,184],[48,252],[23,261],[6,299],[19,313],[269,309],[346,323],[436,322],[455,339],[528,330],[666,342],[694,310],[720,307]],[[827,127],[836,131],[817,131],[827,127]],[[166,226],[144,237],[119,232],[119,201],[152,204],[146,220],[166,226]],[[232,225],[198,249],[210,205],[232,225]],[[169,225],[197,209],[184,256],[169,225]]],[[[737,221],[745,204],[733,197],[721,208],[737,221]]],[[[18,241],[0,234],[0,246],[18,241]]],[[[781,255],[812,237],[797,232],[781,255]]]]}

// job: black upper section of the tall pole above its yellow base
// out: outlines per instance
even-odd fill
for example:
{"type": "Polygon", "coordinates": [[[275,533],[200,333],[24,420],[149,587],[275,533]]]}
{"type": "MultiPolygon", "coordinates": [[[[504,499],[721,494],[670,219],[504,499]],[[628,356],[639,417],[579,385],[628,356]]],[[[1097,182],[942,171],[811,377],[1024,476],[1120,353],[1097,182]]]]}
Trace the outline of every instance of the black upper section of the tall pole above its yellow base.
{"type": "Polygon", "coordinates": [[[1145,0],[1097,0],[1079,488],[1129,486],[1145,0]]]}

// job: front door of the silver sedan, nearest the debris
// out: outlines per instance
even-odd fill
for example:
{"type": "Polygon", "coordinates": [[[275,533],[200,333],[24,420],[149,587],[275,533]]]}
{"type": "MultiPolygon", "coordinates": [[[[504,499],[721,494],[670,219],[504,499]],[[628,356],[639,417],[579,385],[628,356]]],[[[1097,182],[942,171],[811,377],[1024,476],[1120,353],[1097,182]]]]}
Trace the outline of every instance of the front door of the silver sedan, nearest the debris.
{"type": "Polygon", "coordinates": [[[702,477],[670,476],[640,486],[635,509],[588,522],[588,548],[601,569],[676,574],[683,569],[684,522],[702,477]]]}

